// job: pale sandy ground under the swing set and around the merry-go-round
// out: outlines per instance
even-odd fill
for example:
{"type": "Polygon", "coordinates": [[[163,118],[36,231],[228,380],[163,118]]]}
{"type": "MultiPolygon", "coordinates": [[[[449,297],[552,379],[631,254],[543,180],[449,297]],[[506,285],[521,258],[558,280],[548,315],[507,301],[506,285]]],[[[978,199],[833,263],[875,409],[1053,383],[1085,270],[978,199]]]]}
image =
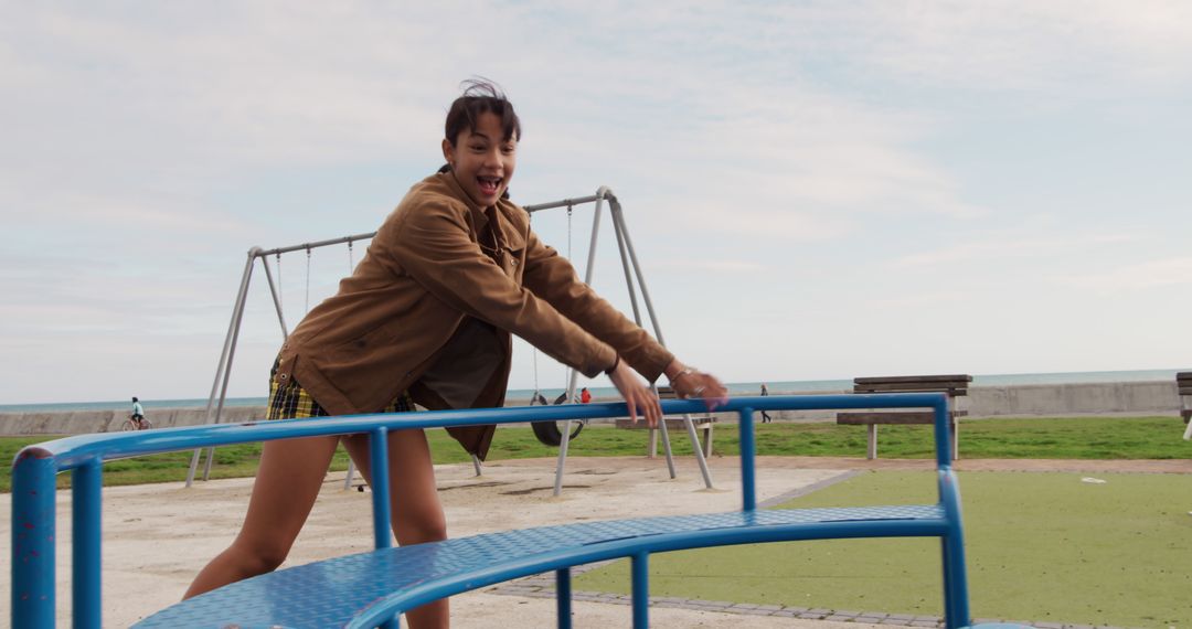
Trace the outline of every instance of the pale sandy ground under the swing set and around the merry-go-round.
{"type": "MultiPolygon", "coordinates": [[[[471,465],[436,467],[452,536],[653,515],[727,511],[740,507],[740,469],[734,457],[709,461],[718,488],[706,490],[694,460],[678,460],[669,478],[663,459],[571,459],[560,498],[552,497],[554,460],[502,461],[480,478],[471,465]]],[[[852,469],[931,469],[931,461],[828,457],[758,457],[758,502],[777,498],[852,469]]],[[[958,461],[958,469],[1192,473],[1192,461],[958,461]]],[[[197,571],[236,534],[252,479],[141,485],[104,490],[104,627],[128,627],[175,603],[197,571]]],[[[343,473],[327,477],[310,521],[287,565],[300,565],[371,548],[370,493],[343,490],[343,473]]],[[[69,618],[70,504],[58,493],[58,619],[69,618]]],[[[11,494],[0,497],[0,544],[10,556],[11,494]]],[[[2,571],[0,617],[8,617],[10,571],[2,571]]],[[[553,599],[472,592],[452,599],[453,627],[553,627],[553,599]]],[[[576,627],[628,627],[627,605],[576,602],[576,627]]],[[[713,611],[652,609],[658,628],[815,627],[843,623],[740,616],[713,611]]],[[[848,623],[852,629],[865,625],[848,623]]]]}

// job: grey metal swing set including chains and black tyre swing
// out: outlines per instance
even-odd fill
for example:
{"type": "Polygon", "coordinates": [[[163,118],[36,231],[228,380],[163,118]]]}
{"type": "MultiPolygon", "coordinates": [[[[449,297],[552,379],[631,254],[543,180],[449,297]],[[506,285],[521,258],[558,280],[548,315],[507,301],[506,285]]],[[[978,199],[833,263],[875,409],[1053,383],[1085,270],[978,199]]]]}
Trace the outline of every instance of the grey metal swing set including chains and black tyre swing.
{"type": "MultiPolygon", "coordinates": [[[[633,319],[639,326],[644,326],[642,312],[638,303],[638,291],[641,292],[641,301],[645,305],[646,313],[650,317],[650,324],[653,328],[654,338],[658,340],[663,345],[666,344],[663,338],[662,328],[658,323],[657,313],[654,312],[653,303],[650,299],[650,292],[646,288],[645,276],[641,272],[641,266],[638,262],[637,251],[633,248],[633,241],[629,238],[628,229],[626,228],[625,213],[621,207],[621,203],[617,200],[613,191],[606,186],[601,186],[595,194],[588,197],[578,197],[572,199],[563,199],[559,201],[551,201],[538,205],[526,205],[523,208],[529,212],[533,218],[535,212],[541,212],[546,210],[554,210],[559,207],[567,208],[567,257],[571,257],[571,236],[572,236],[572,213],[576,206],[592,204],[592,226],[590,244],[588,248],[588,260],[584,269],[584,282],[591,284],[592,273],[595,270],[595,256],[596,248],[600,238],[601,217],[603,213],[604,204],[608,204],[609,217],[613,224],[613,232],[616,237],[617,251],[620,253],[621,268],[625,273],[625,285],[628,291],[629,303],[633,309],[633,319]]],[[[221,416],[223,415],[224,401],[228,393],[228,381],[231,374],[232,359],[236,354],[236,343],[240,337],[241,324],[243,322],[246,301],[248,297],[248,289],[253,276],[253,270],[256,267],[256,261],[261,261],[261,267],[265,269],[265,278],[269,286],[269,293],[273,298],[273,306],[277,311],[278,323],[281,326],[283,340],[288,337],[288,330],[286,328],[285,310],[283,307],[281,299],[281,256],[283,254],[290,254],[294,251],[306,253],[306,276],[305,276],[305,309],[310,310],[310,269],[311,269],[311,257],[316,249],[322,249],[325,247],[337,247],[347,244],[348,249],[348,273],[350,274],[355,269],[355,262],[353,257],[353,244],[360,241],[371,239],[375,236],[374,232],[370,233],[358,233],[355,236],[344,236],[341,238],[331,238],[327,241],[309,242],[291,247],[279,247],[275,249],[261,249],[260,247],[253,247],[248,250],[248,260],[244,263],[244,270],[241,275],[240,288],[236,292],[236,300],[232,306],[231,322],[228,325],[228,334],[224,338],[223,351],[219,355],[219,362],[216,367],[215,381],[211,385],[211,394],[207,399],[206,405],[206,423],[217,424],[219,423],[221,416]],[[277,263],[278,281],[273,280],[273,270],[269,266],[269,257],[273,257],[277,263]]],[[[564,401],[576,400],[576,384],[579,373],[575,369],[569,368],[566,372],[566,390],[557,400],[555,404],[561,404],[564,401]]],[[[652,385],[654,393],[657,394],[657,386],[652,385]]],[[[534,350],[534,394],[530,400],[530,405],[546,404],[546,398],[541,393],[538,380],[538,350],[534,350]]],[[[700,440],[696,435],[695,425],[691,421],[690,415],[683,415],[683,423],[687,428],[688,437],[691,441],[691,449],[695,454],[695,459],[700,466],[700,472],[703,475],[704,486],[712,488],[712,474],[708,469],[707,460],[704,459],[703,449],[700,447],[700,440]]],[[[547,446],[559,447],[559,459],[555,468],[554,477],[554,496],[559,496],[563,492],[563,474],[567,460],[567,446],[570,441],[577,437],[583,430],[584,421],[572,421],[567,419],[561,422],[561,428],[557,422],[538,422],[533,423],[534,435],[547,446]],[[575,422],[575,426],[572,423],[575,422]]],[[[650,431],[650,450],[653,451],[653,446],[657,442],[657,432],[662,434],[663,450],[666,457],[666,466],[670,472],[670,478],[676,478],[675,460],[671,453],[670,436],[666,430],[666,422],[659,422],[657,429],[651,429],[650,431]]],[[[198,465],[200,459],[203,459],[203,449],[194,450],[191,457],[190,471],[186,477],[186,486],[190,487],[194,482],[194,477],[198,471],[198,465]]],[[[215,449],[207,448],[206,460],[203,467],[203,480],[207,480],[211,473],[211,465],[215,457],[215,449]]],[[[480,475],[480,461],[474,455],[472,456],[472,465],[476,468],[476,474],[480,475]]],[[[352,479],[354,474],[353,463],[349,460],[348,474],[344,479],[344,488],[352,487],[352,479]]]]}

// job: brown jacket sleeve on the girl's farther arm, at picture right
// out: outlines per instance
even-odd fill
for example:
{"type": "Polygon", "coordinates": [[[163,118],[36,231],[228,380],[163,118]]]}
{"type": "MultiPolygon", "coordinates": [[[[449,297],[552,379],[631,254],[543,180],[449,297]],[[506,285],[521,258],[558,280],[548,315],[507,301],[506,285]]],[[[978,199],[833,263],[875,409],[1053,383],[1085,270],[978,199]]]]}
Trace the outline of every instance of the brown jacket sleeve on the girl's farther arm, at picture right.
{"type": "Polygon", "coordinates": [[[523,282],[592,336],[608,343],[647,380],[653,382],[675,355],[602,299],[553,248],[530,231],[526,238],[523,282]]]}

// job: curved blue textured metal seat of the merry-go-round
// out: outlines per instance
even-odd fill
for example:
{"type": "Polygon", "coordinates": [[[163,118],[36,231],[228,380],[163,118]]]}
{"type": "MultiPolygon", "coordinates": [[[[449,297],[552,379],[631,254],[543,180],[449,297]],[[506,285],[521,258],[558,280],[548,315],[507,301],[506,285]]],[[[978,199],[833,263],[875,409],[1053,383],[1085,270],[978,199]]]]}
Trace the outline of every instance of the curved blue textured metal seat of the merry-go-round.
{"type": "Polygon", "coordinates": [[[825,538],[858,528],[870,536],[929,536],[944,535],[948,522],[942,505],[896,505],[735,511],[492,533],[262,574],[166,608],[135,627],[356,627],[377,610],[424,596],[432,587],[436,594],[446,588],[443,596],[449,596],[609,559],[592,559],[602,548],[614,552],[613,556],[628,556],[632,548],[720,546],[733,534],[739,538],[731,543],[750,543],[825,538]],[[583,560],[566,562],[569,556],[583,560]],[[395,594],[399,591],[404,594],[395,594]]]}

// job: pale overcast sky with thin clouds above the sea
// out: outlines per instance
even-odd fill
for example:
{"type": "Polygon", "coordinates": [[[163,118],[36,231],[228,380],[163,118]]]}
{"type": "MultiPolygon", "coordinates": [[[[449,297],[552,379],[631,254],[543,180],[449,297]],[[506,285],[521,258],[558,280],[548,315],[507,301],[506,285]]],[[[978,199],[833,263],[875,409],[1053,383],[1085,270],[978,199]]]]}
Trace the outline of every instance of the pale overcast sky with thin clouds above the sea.
{"type": "MultiPolygon", "coordinates": [[[[727,381],[1192,366],[1187,2],[4,1],[0,404],[206,397],[246,251],[377,229],[473,75],[522,117],[515,200],[609,186],[727,381]]],[[[287,322],[348,266],[284,256],[287,322]]],[[[271,309],[257,267],[229,396],[271,309]]]]}

